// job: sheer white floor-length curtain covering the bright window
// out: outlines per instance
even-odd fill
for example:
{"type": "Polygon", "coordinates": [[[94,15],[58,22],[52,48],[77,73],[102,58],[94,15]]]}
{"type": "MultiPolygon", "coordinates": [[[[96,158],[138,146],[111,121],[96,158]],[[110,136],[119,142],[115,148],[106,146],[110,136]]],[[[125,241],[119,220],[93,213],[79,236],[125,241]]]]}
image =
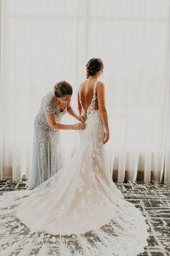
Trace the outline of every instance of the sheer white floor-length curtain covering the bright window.
{"type": "Polygon", "coordinates": [[[113,178],[170,184],[169,0],[1,0],[1,179],[29,175],[42,96],[67,80],[76,108],[91,57],[104,61],[113,178]]]}

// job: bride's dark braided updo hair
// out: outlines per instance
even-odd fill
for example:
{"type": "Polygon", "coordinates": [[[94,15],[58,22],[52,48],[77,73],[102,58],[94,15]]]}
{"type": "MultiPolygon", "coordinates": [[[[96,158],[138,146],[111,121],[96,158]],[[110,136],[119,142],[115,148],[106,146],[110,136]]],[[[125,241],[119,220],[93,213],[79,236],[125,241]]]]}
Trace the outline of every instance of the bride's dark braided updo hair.
{"type": "Polygon", "coordinates": [[[86,64],[86,78],[90,75],[97,74],[101,69],[103,69],[103,61],[102,59],[90,59],[86,64]]]}

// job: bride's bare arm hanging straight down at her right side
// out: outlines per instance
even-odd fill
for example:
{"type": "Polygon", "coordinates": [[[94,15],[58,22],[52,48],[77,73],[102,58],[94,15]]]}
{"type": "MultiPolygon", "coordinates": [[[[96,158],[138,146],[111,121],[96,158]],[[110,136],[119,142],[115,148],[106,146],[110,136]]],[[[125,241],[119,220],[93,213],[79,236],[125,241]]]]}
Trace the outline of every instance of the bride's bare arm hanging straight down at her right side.
{"type": "Polygon", "coordinates": [[[109,123],[108,123],[107,109],[105,106],[105,95],[104,95],[104,83],[103,82],[97,83],[97,101],[98,101],[98,106],[99,106],[99,114],[100,114],[102,124],[105,129],[103,142],[106,143],[109,140],[109,123]]]}

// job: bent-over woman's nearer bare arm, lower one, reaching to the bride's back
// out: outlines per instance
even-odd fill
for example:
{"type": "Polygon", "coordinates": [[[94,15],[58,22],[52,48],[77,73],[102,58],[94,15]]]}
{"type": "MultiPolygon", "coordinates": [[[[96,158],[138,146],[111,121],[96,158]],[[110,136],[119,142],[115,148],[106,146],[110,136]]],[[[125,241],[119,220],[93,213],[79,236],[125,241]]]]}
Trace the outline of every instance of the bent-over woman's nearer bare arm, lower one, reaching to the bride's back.
{"type": "Polygon", "coordinates": [[[55,114],[46,113],[46,119],[52,129],[84,129],[86,124],[58,124],[55,122],[55,114]]]}

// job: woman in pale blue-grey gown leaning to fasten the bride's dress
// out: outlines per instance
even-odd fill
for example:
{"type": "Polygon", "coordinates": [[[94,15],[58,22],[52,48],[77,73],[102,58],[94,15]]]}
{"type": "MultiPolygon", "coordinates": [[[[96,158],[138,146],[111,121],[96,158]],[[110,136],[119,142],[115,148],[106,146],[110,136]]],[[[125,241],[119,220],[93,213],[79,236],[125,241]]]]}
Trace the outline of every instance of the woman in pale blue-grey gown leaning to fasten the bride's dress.
{"type": "Polygon", "coordinates": [[[71,108],[73,89],[66,81],[58,82],[54,91],[42,98],[35,116],[32,167],[28,189],[34,189],[62,167],[60,129],[84,129],[85,116],[78,116],[71,108]],[[78,124],[61,124],[64,114],[76,118],[78,124]]]}

